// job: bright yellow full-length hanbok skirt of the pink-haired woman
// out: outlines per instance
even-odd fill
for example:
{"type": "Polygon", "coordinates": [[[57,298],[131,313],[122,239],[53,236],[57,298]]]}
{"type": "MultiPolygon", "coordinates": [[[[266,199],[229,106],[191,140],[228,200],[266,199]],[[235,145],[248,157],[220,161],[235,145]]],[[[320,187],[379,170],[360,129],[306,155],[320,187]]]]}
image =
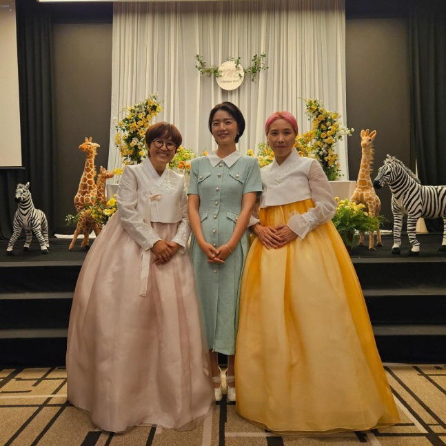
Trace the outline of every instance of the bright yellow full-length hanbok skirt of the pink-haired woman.
{"type": "MultiPolygon", "coordinates": [[[[261,209],[285,224],[311,199],[261,209]]],[[[358,277],[333,223],[267,250],[256,237],[243,271],[236,410],[283,434],[398,423],[358,277]]]]}

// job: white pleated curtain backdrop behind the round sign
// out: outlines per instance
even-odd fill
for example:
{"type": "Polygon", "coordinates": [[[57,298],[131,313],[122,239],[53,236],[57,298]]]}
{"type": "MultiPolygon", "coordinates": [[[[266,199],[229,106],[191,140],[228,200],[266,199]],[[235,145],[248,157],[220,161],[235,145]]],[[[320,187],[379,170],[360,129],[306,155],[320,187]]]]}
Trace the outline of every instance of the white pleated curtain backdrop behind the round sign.
{"type": "MultiPolygon", "coordinates": [[[[310,129],[300,97],[320,99],[345,124],[345,0],[114,3],[112,70],[109,170],[121,167],[114,116],[153,92],[164,99],[157,121],[174,123],[183,146],[198,154],[216,148],[207,128],[211,108],[232,101],[247,123],[239,150],[255,152],[273,112],[288,110],[301,133],[310,129]],[[240,56],[247,68],[261,52],[270,68],[230,92],[195,68],[196,54],[207,67],[240,56]]],[[[337,150],[348,179],[343,141],[337,150]]]]}

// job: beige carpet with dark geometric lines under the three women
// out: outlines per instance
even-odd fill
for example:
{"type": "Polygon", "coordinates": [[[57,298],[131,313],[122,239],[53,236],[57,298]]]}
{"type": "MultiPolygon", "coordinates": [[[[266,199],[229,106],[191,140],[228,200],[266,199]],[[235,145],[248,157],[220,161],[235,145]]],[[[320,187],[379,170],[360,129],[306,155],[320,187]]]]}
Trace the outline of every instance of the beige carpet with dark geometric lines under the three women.
{"type": "Polygon", "coordinates": [[[62,368],[0,371],[0,445],[39,446],[445,446],[446,366],[387,365],[401,423],[372,432],[276,436],[248,423],[222,401],[191,432],[136,427],[125,434],[95,429],[66,400],[62,368]]]}

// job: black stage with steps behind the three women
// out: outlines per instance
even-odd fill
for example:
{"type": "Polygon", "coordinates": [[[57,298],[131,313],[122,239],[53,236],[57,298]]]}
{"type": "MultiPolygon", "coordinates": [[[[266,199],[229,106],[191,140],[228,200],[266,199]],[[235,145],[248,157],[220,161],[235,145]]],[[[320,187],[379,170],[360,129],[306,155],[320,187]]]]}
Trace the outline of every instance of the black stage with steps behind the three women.
{"type": "MultiPolygon", "coordinates": [[[[388,363],[446,362],[446,253],[441,234],[419,234],[419,256],[392,255],[392,235],[370,252],[354,247],[352,262],[363,287],[376,344],[388,363]]],[[[23,252],[6,255],[0,241],[0,366],[61,366],[65,363],[68,318],[86,251],[78,241],[50,239],[50,254],[34,239],[23,252]]],[[[368,245],[367,236],[365,244],[368,245]]]]}

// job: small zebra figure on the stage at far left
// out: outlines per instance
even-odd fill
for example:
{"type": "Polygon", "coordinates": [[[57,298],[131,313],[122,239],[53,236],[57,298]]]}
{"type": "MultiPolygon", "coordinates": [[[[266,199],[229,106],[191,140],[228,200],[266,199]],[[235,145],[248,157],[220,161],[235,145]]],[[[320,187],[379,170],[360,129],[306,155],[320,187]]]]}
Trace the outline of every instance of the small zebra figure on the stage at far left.
{"type": "Polygon", "coordinates": [[[50,243],[48,242],[48,221],[43,211],[36,209],[31,199],[30,183],[18,184],[15,190],[15,201],[19,203],[19,208],[14,215],[13,234],[8,243],[6,254],[12,256],[14,243],[19,238],[22,228],[25,228],[26,242],[23,251],[30,249],[32,233],[39,240],[42,254],[48,254],[50,243]]]}

